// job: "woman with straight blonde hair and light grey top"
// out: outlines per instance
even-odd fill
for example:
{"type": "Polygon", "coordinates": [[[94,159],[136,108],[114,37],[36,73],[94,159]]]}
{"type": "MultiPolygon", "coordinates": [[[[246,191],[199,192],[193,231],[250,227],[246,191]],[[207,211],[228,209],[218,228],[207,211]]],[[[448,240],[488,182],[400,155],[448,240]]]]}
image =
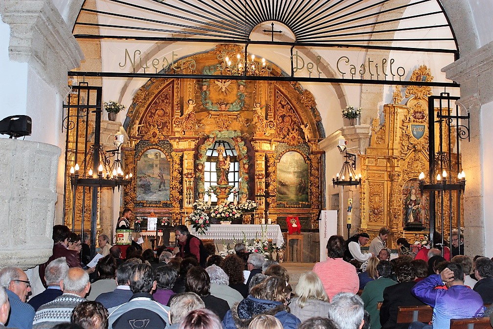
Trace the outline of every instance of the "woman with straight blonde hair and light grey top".
{"type": "Polygon", "coordinates": [[[329,297],[323,288],[322,281],[314,272],[301,274],[295,289],[296,296],[291,300],[291,314],[301,322],[313,317],[327,317],[329,314],[329,297]]]}

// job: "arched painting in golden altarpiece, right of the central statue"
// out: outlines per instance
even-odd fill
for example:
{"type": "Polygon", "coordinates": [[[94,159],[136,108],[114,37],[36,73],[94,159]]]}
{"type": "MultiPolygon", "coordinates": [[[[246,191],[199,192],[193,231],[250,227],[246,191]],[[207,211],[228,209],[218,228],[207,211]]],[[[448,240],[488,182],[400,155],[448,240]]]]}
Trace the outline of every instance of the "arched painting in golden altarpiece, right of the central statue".
{"type": "Polygon", "coordinates": [[[295,151],[282,155],[277,166],[277,201],[308,201],[308,164],[303,156],[295,151]]]}

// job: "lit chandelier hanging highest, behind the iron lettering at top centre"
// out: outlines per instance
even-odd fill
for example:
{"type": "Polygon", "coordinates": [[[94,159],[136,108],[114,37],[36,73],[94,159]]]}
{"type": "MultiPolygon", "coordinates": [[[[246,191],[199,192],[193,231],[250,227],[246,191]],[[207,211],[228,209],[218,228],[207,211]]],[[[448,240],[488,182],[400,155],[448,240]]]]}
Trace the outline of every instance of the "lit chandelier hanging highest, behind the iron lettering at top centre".
{"type": "Polygon", "coordinates": [[[255,55],[248,54],[242,56],[236,54],[236,60],[228,56],[223,56],[221,69],[229,75],[267,75],[272,72],[272,66],[267,64],[265,58],[256,60],[255,55]]]}

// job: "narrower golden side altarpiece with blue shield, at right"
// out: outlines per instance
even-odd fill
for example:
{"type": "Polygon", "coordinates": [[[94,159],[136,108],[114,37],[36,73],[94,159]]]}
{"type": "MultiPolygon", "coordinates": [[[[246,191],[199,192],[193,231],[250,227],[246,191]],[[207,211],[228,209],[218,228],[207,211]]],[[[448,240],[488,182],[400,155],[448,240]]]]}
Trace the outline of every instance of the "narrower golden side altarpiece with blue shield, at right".
{"type": "MultiPolygon", "coordinates": [[[[432,81],[433,76],[428,68],[421,66],[413,72],[410,80],[432,81]]],[[[400,86],[396,86],[393,104],[384,105],[382,123],[379,119],[373,120],[370,146],[366,154],[360,155],[363,178],[360,190],[361,230],[368,232],[373,239],[381,227],[388,227],[391,231],[387,240],[389,247],[395,248],[399,237],[414,243],[421,235],[420,230],[421,233],[429,232],[429,194],[421,192],[418,177],[421,172],[428,172],[429,138],[435,138],[436,145],[439,139],[439,136],[428,135],[428,120],[435,119],[428,118],[430,95],[430,87],[408,86],[405,89],[407,101],[400,104],[403,97],[400,86]]],[[[451,140],[454,149],[454,138],[451,140]]],[[[457,227],[455,198],[457,196],[452,195],[450,213],[450,200],[443,198],[446,204],[443,217],[451,215],[452,224],[457,227]]],[[[440,218],[440,210],[437,212],[436,218],[440,218]]],[[[438,231],[441,230],[440,225],[441,222],[437,221],[438,231]]]]}

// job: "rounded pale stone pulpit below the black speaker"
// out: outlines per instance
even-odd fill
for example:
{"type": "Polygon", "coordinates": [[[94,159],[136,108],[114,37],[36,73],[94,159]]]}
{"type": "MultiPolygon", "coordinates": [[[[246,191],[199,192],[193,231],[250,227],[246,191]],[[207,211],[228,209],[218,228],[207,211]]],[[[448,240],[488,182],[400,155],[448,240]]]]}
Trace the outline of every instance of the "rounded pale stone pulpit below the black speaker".
{"type": "Polygon", "coordinates": [[[0,266],[23,269],[51,256],[60,148],[0,139],[0,266]]]}

